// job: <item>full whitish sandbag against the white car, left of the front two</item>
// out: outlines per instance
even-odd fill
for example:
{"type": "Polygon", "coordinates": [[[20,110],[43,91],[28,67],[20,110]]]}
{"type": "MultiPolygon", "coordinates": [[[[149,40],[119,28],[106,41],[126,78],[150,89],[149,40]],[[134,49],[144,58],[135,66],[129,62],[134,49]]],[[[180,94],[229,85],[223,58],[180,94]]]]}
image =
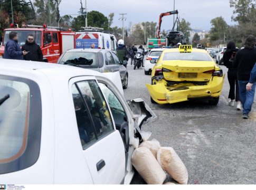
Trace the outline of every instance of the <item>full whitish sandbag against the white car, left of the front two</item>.
{"type": "Polygon", "coordinates": [[[135,149],[131,157],[131,164],[147,184],[164,183],[166,174],[148,148],[135,149]]]}

